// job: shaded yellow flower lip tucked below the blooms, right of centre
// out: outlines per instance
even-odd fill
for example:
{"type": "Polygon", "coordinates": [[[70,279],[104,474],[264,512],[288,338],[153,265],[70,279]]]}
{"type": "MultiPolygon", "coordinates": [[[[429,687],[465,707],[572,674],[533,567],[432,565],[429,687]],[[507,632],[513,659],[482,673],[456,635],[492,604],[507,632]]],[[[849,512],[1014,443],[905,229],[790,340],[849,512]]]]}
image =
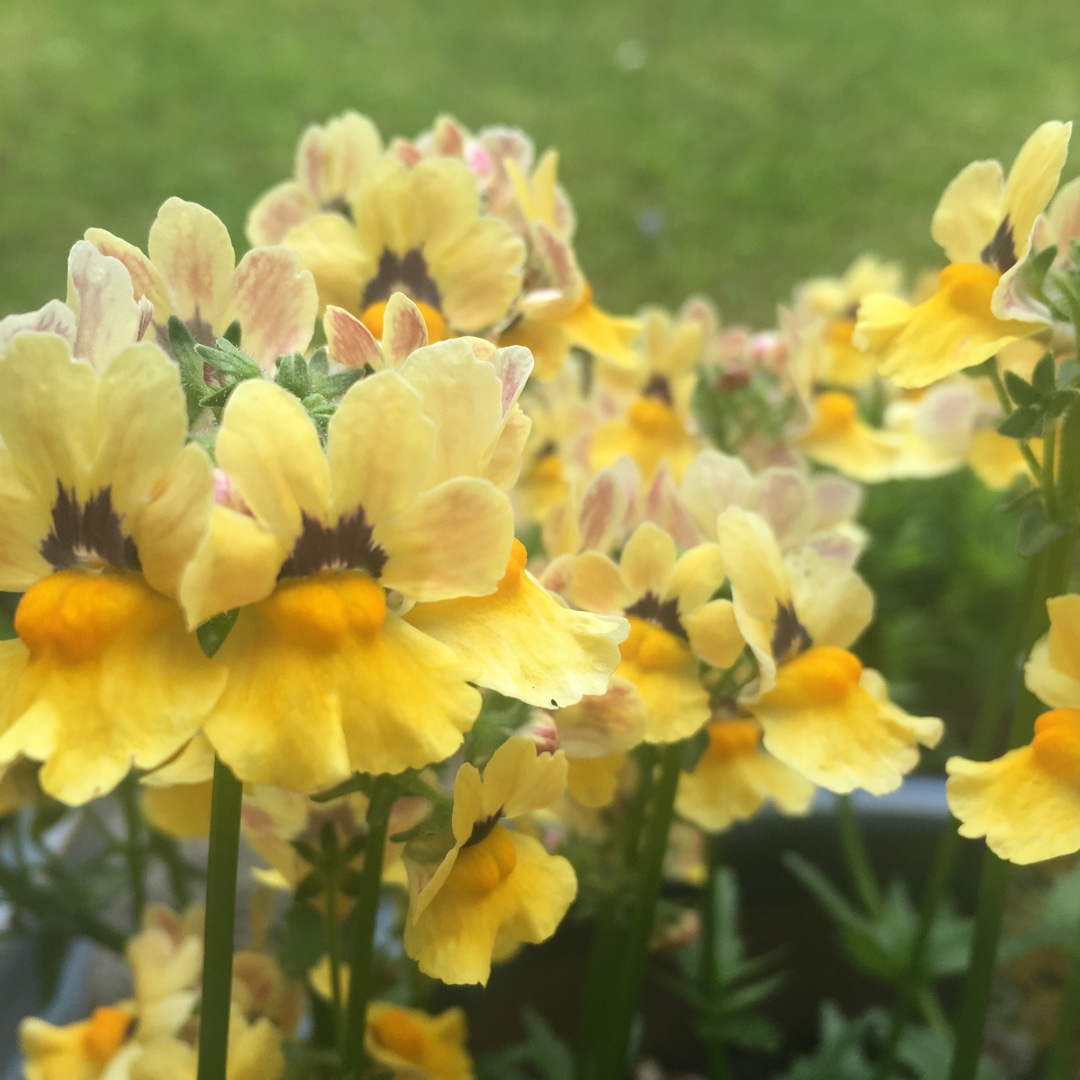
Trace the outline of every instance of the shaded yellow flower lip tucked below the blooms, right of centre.
{"type": "Polygon", "coordinates": [[[693,772],[679,777],[676,811],[708,833],[752,816],[767,799],[784,813],[806,813],[813,784],[761,750],[760,742],[761,729],[753,720],[711,721],[707,750],[693,772]]]}

